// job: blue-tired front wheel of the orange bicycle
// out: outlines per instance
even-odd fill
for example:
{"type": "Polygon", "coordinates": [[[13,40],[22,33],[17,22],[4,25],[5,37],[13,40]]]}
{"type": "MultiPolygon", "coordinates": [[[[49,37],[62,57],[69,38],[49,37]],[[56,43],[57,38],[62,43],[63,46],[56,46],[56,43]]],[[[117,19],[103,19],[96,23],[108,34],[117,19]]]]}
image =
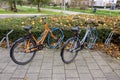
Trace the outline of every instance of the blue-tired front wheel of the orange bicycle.
{"type": "Polygon", "coordinates": [[[49,33],[47,37],[47,44],[49,48],[59,48],[64,39],[64,33],[60,28],[52,28],[51,32],[57,37],[57,40],[53,39],[49,33]]]}

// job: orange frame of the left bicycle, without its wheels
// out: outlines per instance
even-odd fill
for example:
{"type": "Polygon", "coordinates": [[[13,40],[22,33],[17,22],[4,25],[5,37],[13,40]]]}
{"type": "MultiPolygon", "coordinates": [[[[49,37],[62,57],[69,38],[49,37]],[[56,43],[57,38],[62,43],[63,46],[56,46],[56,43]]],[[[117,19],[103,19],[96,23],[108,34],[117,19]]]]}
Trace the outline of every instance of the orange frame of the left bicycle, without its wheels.
{"type": "Polygon", "coordinates": [[[41,37],[41,39],[40,39],[39,41],[34,37],[34,35],[32,35],[32,34],[29,34],[29,35],[28,35],[28,37],[31,37],[31,38],[35,41],[36,46],[33,47],[33,48],[31,48],[31,50],[29,50],[30,41],[28,40],[27,43],[26,43],[25,52],[32,52],[32,51],[38,50],[38,46],[39,46],[39,45],[42,45],[42,44],[44,43],[44,41],[45,41],[48,33],[50,33],[50,35],[51,35],[52,38],[57,39],[57,38],[53,35],[53,33],[51,32],[51,30],[50,30],[50,28],[48,27],[48,24],[47,24],[47,23],[45,24],[44,28],[45,28],[45,30],[44,30],[44,32],[43,32],[43,36],[41,37]]]}

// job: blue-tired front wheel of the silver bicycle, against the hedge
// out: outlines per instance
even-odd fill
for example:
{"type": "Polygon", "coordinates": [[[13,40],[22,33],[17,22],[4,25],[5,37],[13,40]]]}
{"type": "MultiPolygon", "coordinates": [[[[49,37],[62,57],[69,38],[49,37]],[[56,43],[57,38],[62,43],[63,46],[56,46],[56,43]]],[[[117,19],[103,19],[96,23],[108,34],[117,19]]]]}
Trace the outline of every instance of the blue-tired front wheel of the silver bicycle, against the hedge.
{"type": "Polygon", "coordinates": [[[97,34],[96,28],[92,28],[91,32],[87,36],[87,43],[86,43],[87,48],[89,48],[89,49],[94,48],[94,45],[97,40],[97,36],[98,36],[98,34],[97,34]]]}

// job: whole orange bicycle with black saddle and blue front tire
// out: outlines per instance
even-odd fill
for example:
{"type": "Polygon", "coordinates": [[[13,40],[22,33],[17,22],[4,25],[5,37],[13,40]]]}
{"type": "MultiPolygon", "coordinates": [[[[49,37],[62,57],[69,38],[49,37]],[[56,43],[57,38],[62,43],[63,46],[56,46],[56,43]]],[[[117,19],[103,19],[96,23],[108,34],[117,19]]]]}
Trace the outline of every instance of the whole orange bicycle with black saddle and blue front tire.
{"type": "Polygon", "coordinates": [[[44,28],[45,30],[39,39],[36,39],[32,34],[32,26],[24,28],[28,34],[16,40],[10,49],[10,57],[16,64],[25,65],[29,63],[34,58],[36,51],[44,48],[43,44],[46,38],[50,48],[59,47],[64,38],[63,31],[60,28],[50,29],[48,23],[45,23],[44,28]]]}

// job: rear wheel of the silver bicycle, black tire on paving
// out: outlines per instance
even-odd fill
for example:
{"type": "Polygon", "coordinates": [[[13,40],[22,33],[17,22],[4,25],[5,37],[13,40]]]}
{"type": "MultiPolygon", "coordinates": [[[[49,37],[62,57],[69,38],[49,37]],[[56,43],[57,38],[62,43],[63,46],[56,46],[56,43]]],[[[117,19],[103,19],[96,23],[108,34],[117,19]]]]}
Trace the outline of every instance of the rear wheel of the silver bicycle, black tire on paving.
{"type": "Polygon", "coordinates": [[[62,61],[66,64],[71,63],[78,53],[78,41],[72,37],[69,38],[61,49],[61,58],[62,61]]]}

